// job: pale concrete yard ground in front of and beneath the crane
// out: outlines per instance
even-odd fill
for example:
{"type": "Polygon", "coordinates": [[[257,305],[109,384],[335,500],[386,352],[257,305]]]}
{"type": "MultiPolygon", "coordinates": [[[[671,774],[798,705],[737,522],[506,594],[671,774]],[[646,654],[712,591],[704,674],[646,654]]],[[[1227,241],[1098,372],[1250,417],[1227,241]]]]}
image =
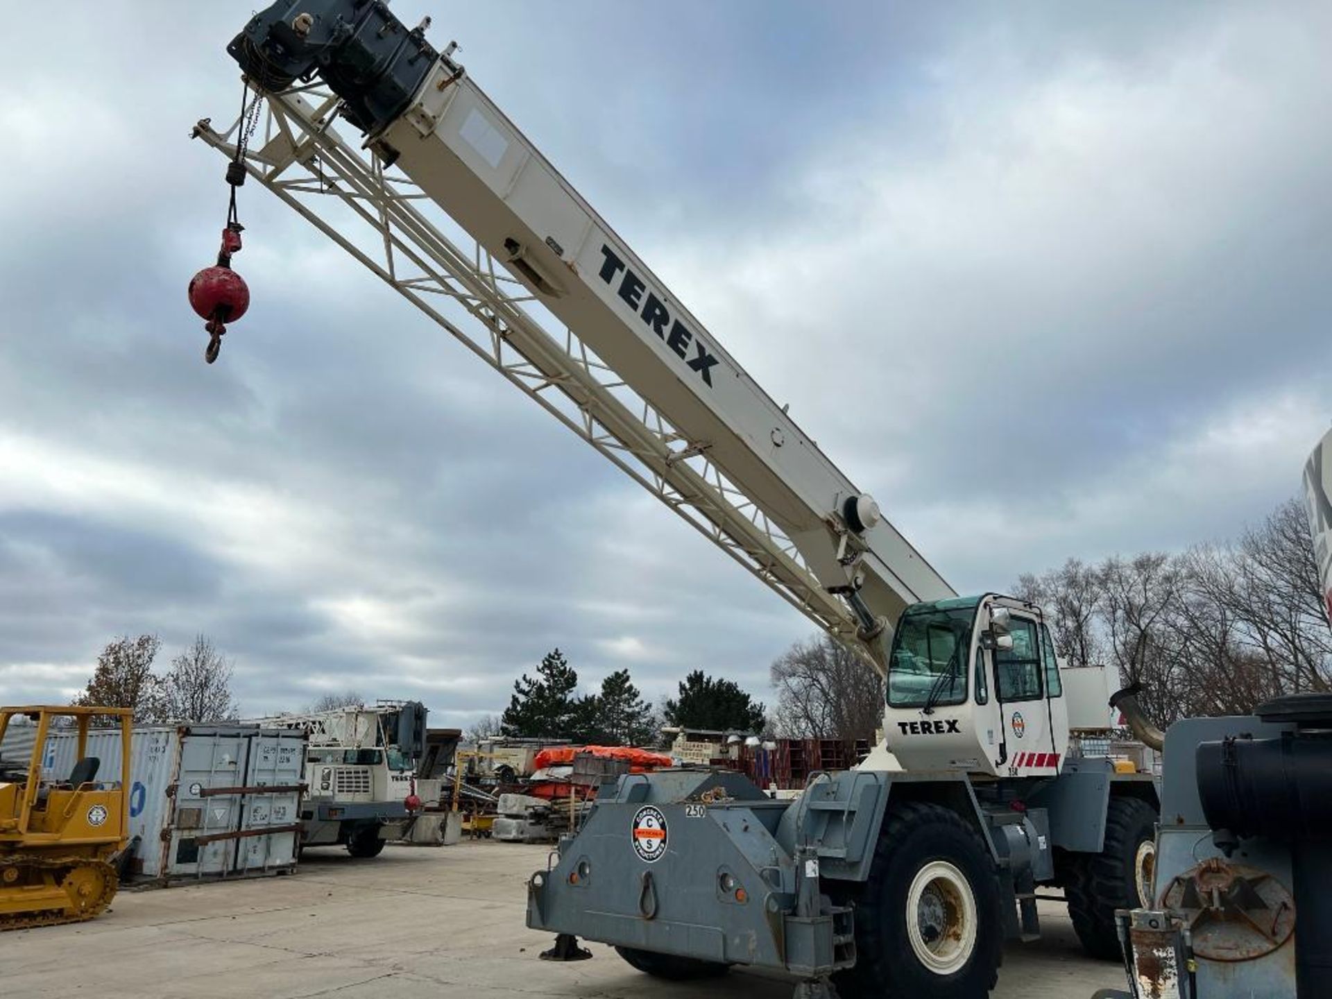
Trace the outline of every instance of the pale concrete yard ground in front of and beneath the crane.
{"type": "MultiPolygon", "coordinates": [[[[0,934],[0,995],[789,999],[790,986],[739,972],[657,982],[602,944],[593,960],[538,962],[550,940],[523,926],[523,886],[545,856],[493,842],[372,860],[310,850],[290,876],[123,891],[91,923],[0,934]]],[[[1046,936],[1008,948],[995,996],[1088,999],[1123,983],[1116,964],[1082,956],[1062,906],[1042,906],[1046,936]]]]}

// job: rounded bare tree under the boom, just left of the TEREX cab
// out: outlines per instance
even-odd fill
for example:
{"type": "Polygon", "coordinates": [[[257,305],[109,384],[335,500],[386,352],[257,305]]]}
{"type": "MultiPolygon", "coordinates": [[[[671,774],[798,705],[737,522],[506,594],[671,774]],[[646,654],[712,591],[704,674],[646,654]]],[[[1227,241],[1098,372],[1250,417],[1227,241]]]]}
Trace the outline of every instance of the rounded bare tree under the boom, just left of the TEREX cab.
{"type": "Polygon", "coordinates": [[[797,642],[773,663],[775,727],[793,738],[872,738],[883,683],[860,655],[830,635],[797,642]]]}

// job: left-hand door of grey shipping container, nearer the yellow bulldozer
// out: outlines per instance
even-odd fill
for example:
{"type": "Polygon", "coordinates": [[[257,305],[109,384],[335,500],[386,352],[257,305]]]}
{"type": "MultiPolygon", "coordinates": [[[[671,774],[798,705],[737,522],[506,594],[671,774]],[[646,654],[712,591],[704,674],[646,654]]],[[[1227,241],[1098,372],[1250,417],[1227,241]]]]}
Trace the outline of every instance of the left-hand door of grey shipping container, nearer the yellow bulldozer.
{"type": "Polygon", "coordinates": [[[253,729],[192,729],[182,738],[166,874],[226,874],[240,829],[248,735],[253,729]],[[234,789],[228,793],[228,789],[234,789]]]}

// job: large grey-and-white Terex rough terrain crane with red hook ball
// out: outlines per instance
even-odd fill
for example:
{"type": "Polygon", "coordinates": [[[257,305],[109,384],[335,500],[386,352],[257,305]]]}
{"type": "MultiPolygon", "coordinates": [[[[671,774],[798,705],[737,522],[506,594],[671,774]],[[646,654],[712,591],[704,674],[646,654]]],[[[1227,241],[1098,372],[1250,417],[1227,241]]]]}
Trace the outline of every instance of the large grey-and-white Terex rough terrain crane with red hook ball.
{"type": "MultiPolygon", "coordinates": [[[[1062,884],[1084,946],[1118,956],[1156,791],[1070,753],[1070,717],[1108,711],[1071,703],[1040,609],[958,597],[426,27],[377,0],[273,4],[228,47],[240,119],[194,135],[233,192],[257,180],[886,677],[886,743],[795,802],[707,770],[602,789],[533,875],[529,924],[553,956],[585,936],[663,978],[956,999],[988,992],[1062,884]]],[[[214,360],[248,296],[209,281],[214,360]]]]}

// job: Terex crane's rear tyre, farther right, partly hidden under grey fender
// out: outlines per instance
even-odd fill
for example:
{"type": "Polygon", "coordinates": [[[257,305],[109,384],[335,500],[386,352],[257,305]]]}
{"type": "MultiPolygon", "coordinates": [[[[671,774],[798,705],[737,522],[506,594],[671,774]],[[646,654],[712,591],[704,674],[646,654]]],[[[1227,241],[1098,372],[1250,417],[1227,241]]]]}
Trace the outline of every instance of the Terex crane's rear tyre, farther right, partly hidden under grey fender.
{"type": "Polygon", "coordinates": [[[1152,904],[1138,884],[1147,847],[1156,842],[1156,810],[1140,798],[1111,798],[1102,851],[1074,855],[1068,863],[1064,875],[1068,915],[1083,950],[1092,958],[1123,960],[1115,910],[1152,904]]]}

